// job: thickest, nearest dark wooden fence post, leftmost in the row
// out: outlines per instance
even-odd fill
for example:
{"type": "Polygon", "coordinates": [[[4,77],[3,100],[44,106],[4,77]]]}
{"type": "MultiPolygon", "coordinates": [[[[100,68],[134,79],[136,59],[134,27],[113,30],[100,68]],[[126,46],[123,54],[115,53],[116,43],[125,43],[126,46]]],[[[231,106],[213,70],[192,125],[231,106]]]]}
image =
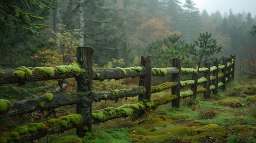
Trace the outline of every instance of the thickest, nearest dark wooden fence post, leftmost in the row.
{"type": "MultiPolygon", "coordinates": [[[[88,131],[91,132],[92,126],[92,107],[91,101],[85,102],[84,99],[91,99],[92,90],[92,55],[94,49],[91,47],[81,47],[76,48],[76,61],[81,65],[81,68],[85,70],[85,73],[76,76],[76,82],[78,86],[78,92],[85,92],[82,96],[81,102],[76,104],[76,113],[84,116],[84,121],[87,122],[88,131]]],[[[76,128],[76,135],[82,137],[84,136],[84,130],[82,128],[76,128]]]]}

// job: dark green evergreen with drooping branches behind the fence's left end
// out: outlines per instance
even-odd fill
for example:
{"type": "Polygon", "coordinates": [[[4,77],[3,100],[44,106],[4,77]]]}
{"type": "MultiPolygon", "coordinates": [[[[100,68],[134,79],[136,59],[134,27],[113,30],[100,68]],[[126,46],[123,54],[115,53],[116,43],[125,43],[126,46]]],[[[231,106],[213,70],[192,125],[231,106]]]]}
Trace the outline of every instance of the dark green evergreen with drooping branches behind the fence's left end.
{"type": "Polygon", "coordinates": [[[48,27],[43,20],[54,8],[54,0],[0,2],[0,66],[35,65],[30,56],[47,44],[41,35],[48,27]]]}

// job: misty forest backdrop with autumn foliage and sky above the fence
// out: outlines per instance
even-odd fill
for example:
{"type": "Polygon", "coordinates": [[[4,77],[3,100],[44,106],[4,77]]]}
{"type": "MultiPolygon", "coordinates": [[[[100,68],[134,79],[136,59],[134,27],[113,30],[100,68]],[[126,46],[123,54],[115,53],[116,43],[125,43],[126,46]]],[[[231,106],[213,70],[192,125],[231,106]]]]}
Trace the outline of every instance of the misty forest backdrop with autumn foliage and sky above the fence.
{"type": "Polygon", "coordinates": [[[70,64],[76,46],[95,49],[95,67],[109,61],[116,63],[110,66],[139,65],[141,55],[152,55],[155,67],[170,66],[174,57],[195,66],[190,51],[206,32],[222,47],[211,55],[220,61],[236,54],[238,63],[246,63],[255,49],[252,0],[4,2],[14,8],[1,5],[0,68],[70,64]]]}

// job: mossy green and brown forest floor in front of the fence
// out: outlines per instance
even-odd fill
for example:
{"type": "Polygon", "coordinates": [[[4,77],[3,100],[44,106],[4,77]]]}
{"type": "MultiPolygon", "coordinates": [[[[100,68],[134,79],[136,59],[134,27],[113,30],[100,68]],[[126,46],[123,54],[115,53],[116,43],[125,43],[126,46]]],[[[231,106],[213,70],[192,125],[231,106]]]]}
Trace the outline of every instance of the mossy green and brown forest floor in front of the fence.
{"type": "Polygon", "coordinates": [[[170,103],[133,119],[94,125],[84,142],[256,142],[256,85],[229,83],[211,99],[199,94],[181,100],[180,108],[170,103]]]}

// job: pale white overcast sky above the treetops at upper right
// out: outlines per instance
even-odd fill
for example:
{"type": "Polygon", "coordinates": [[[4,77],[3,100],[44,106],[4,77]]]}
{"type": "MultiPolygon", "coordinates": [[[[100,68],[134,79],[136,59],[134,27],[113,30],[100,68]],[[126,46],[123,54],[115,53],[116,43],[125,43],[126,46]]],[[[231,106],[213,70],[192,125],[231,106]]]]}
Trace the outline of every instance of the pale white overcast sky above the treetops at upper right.
{"type": "MultiPolygon", "coordinates": [[[[186,0],[181,0],[185,2],[186,0]]],[[[211,14],[219,10],[221,14],[228,13],[232,9],[233,13],[245,11],[250,12],[252,17],[256,15],[256,0],[193,0],[196,7],[202,12],[204,9],[211,14]]]]}

